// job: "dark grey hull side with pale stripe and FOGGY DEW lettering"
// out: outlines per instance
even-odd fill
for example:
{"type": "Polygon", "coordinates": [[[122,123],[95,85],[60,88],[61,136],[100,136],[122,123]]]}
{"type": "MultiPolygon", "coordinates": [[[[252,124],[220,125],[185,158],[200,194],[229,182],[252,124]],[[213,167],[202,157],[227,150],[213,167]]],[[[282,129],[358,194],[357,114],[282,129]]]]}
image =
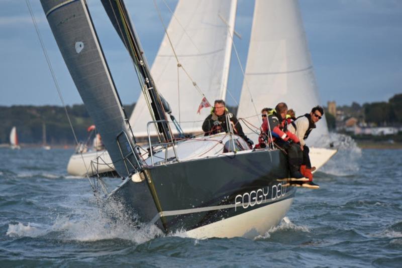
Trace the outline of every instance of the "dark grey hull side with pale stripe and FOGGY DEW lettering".
{"type": "Polygon", "coordinates": [[[206,226],[293,198],[296,192],[280,181],[289,176],[286,156],[278,150],[155,166],[144,175],[141,182],[127,180],[112,197],[165,232],[206,226]]]}

